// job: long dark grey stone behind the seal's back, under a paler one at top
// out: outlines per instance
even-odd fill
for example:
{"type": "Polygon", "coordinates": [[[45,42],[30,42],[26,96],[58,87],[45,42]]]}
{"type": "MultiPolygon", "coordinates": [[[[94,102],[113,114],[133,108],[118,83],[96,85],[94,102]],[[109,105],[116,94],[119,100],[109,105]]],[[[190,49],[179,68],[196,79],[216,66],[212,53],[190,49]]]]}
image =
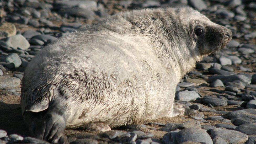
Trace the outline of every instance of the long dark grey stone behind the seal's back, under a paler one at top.
{"type": "Polygon", "coordinates": [[[92,10],[84,8],[63,8],[58,11],[61,15],[71,15],[74,17],[82,17],[87,20],[94,20],[95,13],[92,10]]]}

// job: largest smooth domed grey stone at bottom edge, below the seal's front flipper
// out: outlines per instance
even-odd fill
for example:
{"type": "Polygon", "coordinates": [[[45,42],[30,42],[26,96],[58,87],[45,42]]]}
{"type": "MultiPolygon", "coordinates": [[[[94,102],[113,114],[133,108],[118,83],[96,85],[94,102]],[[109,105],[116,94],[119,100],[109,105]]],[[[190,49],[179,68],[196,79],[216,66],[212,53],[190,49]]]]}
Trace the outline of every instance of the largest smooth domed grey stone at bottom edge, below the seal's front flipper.
{"type": "Polygon", "coordinates": [[[176,135],[176,140],[178,143],[186,141],[212,143],[209,134],[207,134],[206,130],[201,129],[200,127],[191,127],[179,131],[176,135]]]}

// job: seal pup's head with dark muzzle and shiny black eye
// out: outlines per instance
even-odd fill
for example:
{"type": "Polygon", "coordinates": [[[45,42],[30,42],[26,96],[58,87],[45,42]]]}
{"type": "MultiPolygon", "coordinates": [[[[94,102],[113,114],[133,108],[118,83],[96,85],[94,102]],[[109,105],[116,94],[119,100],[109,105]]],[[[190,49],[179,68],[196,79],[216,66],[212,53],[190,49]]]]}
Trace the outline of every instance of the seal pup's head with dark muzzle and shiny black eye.
{"type": "Polygon", "coordinates": [[[178,9],[180,22],[190,35],[200,55],[221,50],[232,39],[232,33],[224,26],[211,22],[207,17],[191,8],[178,9]]]}

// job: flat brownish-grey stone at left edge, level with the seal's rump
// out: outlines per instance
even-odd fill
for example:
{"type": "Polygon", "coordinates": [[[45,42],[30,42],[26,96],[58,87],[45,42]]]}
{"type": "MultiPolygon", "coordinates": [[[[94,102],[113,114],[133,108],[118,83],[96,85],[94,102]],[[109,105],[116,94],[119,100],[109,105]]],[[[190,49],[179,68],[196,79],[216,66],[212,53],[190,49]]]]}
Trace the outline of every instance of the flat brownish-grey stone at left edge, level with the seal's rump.
{"type": "Polygon", "coordinates": [[[15,77],[0,76],[0,89],[15,88],[20,84],[20,79],[15,77]]]}

